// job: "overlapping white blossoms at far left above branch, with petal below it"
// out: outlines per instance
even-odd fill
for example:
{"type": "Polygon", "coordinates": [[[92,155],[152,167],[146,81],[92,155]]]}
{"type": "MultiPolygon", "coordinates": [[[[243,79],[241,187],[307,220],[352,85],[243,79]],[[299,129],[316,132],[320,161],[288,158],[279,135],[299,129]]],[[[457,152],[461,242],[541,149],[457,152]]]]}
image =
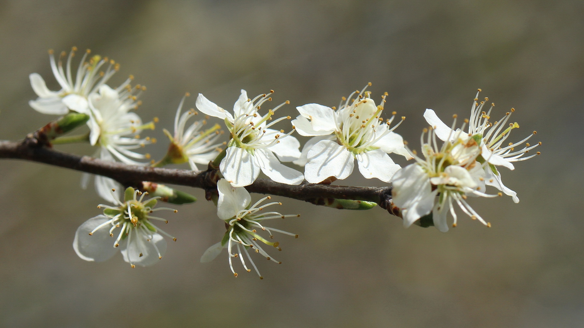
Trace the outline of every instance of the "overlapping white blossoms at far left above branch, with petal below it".
{"type": "MultiPolygon", "coordinates": [[[[136,159],[147,159],[150,155],[133,150],[155,142],[155,139],[140,138],[139,135],[142,130],[154,129],[154,122],[142,124],[141,118],[130,110],[140,106],[141,102],[137,98],[146,88],[141,85],[132,88],[131,75],[116,89],[110,88],[106,82],[119,71],[120,64],[100,55],[88,58],[90,50],[85,51],[73,78],[71,65],[76,51],[77,47],[73,47],[69,55],[63,51],[58,62],[55,62],[53,51],[49,51],[51,69],[61,90],[48,90],[39,74],[30,74],[32,88],[39,96],[36,100],[30,100],[30,106],[44,114],[63,115],[69,111],[87,114],[87,125],[90,129],[88,140],[92,146],[99,148],[95,157],[107,161],[117,159],[131,165],[145,165],[136,159]],[[64,65],[65,57],[67,62],[64,65]]],[[[89,175],[84,175],[82,186],[86,187],[88,181],[89,175]]],[[[120,187],[112,179],[100,176],[95,178],[96,191],[107,201],[116,201],[119,195],[112,194],[110,190],[119,190],[120,187]]]]}

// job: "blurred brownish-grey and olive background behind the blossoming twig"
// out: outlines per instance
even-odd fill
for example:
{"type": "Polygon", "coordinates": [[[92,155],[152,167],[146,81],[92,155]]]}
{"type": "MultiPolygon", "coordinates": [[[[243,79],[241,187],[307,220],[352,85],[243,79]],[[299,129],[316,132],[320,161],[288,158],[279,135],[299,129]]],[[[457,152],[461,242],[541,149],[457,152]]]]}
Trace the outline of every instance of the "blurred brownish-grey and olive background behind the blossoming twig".
{"type": "MultiPolygon", "coordinates": [[[[279,238],[283,264],[257,261],[264,280],[241,268],[234,278],[226,254],[199,263],[224,225],[188,188],[200,201],[169,215],[179,240],[160,263],[81,260],[75,230],[101,202],[80,189],[81,173],[2,160],[2,327],[584,326],[582,1],[3,0],[0,45],[1,139],[51,119],[28,106],[28,75],[57,89],[47,49],[77,46],[121,63],[112,85],[133,74],[148,87],[138,113],[161,119],[155,157],[186,91],[231,108],[240,88],[274,89],[296,116],[294,106],[335,106],[367,82],[407,117],[397,132],[414,147],[425,108],[468,116],[477,88],[495,117],[517,109],[517,139],[537,130],[543,142],[541,156],[502,171],[519,204],[472,200],[491,229],[468,218],[448,233],[404,229],[379,208],[284,199],[282,212],[302,216],[272,225],[300,238],[279,238]]],[[[358,173],[342,183],[381,185],[358,173]]]]}

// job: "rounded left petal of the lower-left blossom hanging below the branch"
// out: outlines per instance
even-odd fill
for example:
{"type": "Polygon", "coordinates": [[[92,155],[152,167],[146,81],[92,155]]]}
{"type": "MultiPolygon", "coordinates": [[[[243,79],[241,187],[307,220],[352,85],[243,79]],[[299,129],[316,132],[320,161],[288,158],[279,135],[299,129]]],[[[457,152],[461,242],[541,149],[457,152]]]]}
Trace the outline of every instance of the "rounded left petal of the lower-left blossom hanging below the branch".
{"type": "Polygon", "coordinates": [[[73,249],[81,259],[102,262],[116,254],[117,249],[113,247],[115,238],[109,235],[111,225],[106,225],[93,232],[91,236],[89,235],[89,232],[109,220],[110,218],[105,215],[98,215],[88,219],[77,228],[75,239],[73,239],[73,249]]]}

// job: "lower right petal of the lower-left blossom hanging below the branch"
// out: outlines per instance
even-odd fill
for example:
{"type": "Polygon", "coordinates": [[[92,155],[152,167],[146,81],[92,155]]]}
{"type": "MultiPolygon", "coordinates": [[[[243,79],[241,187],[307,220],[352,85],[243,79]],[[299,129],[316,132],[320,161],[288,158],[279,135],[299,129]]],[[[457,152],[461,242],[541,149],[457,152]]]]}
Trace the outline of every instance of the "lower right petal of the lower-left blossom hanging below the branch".
{"type": "Polygon", "coordinates": [[[166,253],[166,240],[164,237],[157,232],[148,231],[147,233],[141,229],[132,229],[131,236],[126,237],[126,240],[130,240],[130,242],[120,246],[124,261],[147,267],[158,263],[160,257],[164,256],[166,253]],[[150,239],[150,241],[147,239],[150,239]]]}

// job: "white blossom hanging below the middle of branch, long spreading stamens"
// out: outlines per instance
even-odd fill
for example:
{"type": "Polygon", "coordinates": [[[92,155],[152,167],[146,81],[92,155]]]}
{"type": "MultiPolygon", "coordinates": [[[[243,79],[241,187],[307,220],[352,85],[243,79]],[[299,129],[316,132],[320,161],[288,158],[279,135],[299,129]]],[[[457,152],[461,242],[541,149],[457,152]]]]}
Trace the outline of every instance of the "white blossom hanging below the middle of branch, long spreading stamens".
{"type": "MultiPolygon", "coordinates": [[[[258,267],[253,263],[252,257],[249,256],[249,252],[259,253],[266,257],[267,260],[272,260],[276,263],[281,263],[273,259],[260,245],[260,242],[281,250],[279,242],[270,242],[266,238],[259,235],[258,231],[266,231],[270,234],[269,238],[274,238],[272,232],[283,233],[284,235],[290,235],[298,238],[298,235],[294,233],[281,231],[274,228],[269,228],[262,224],[264,220],[274,219],[274,218],[288,218],[288,217],[300,217],[300,215],[282,215],[279,212],[262,212],[262,210],[268,206],[280,204],[278,202],[272,202],[260,205],[263,201],[269,200],[270,196],[264,197],[257,201],[255,204],[251,204],[251,196],[245,188],[243,187],[233,187],[227,180],[221,179],[217,182],[217,191],[219,192],[219,200],[217,202],[217,216],[225,221],[225,226],[227,231],[223,236],[221,242],[209,247],[206,252],[201,257],[201,262],[208,262],[217,257],[221,251],[227,247],[229,266],[231,272],[237,277],[237,273],[233,268],[232,259],[234,257],[239,257],[241,264],[244,266],[246,271],[251,271],[245,264],[245,257],[252,264],[252,267],[258,273],[259,278],[263,279],[260,275],[258,267]],[[237,248],[237,253],[235,249],[237,248]],[[249,250],[249,251],[248,251],[249,250]]],[[[266,246],[264,246],[266,247],[266,246]]]]}

